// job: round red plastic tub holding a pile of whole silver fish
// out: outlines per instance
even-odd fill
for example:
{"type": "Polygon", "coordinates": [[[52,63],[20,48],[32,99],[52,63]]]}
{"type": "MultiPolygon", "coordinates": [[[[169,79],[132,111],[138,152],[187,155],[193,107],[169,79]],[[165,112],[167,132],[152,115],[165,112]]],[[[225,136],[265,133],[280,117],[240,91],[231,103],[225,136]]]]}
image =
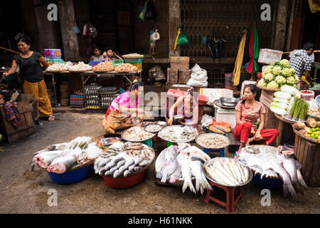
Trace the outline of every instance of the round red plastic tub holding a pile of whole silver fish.
{"type": "Polygon", "coordinates": [[[125,189],[129,187],[133,187],[134,185],[139,184],[144,180],[146,177],[146,170],[137,173],[137,175],[133,175],[130,177],[120,177],[120,178],[113,178],[113,177],[106,177],[102,176],[105,183],[112,188],[116,189],[125,189]]]}

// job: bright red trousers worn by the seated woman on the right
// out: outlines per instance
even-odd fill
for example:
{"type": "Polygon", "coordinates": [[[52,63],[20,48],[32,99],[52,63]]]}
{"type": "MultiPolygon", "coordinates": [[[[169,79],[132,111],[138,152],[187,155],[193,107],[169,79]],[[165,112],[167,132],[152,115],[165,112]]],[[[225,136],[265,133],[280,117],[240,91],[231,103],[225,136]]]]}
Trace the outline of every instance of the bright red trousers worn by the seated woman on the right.
{"type": "MultiPolygon", "coordinates": [[[[235,138],[237,140],[240,140],[241,142],[247,142],[247,139],[250,138],[252,123],[245,122],[240,125],[236,125],[235,129],[233,130],[233,135],[235,135],[235,138]]],[[[257,129],[255,129],[257,131],[257,129]]],[[[274,138],[279,135],[279,132],[277,129],[263,129],[260,132],[261,137],[265,140],[267,145],[270,145],[270,143],[274,140],[274,138]]]]}

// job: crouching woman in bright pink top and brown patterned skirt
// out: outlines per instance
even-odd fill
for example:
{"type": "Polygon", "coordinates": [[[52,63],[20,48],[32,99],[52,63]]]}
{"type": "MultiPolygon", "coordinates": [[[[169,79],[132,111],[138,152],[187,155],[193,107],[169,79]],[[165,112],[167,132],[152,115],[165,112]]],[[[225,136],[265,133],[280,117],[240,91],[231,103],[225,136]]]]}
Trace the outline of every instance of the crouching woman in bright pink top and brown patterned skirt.
{"type": "Polygon", "coordinates": [[[138,114],[144,114],[144,110],[139,107],[141,98],[139,98],[139,86],[142,83],[139,81],[132,84],[129,87],[129,91],[122,93],[112,101],[112,104],[107,110],[105,120],[103,120],[103,128],[107,133],[114,134],[115,130],[131,128],[136,124],[131,123],[131,117],[138,114]]]}

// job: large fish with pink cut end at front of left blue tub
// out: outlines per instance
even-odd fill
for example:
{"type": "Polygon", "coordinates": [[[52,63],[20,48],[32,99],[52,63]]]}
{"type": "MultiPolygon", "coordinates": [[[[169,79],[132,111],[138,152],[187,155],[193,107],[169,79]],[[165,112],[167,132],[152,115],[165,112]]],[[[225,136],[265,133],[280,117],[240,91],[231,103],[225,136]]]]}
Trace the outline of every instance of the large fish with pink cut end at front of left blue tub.
{"type": "Polygon", "coordinates": [[[69,170],[71,167],[77,164],[77,160],[72,155],[65,155],[63,157],[58,157],[51,165],[48,166],[48,172],[55,172],[58,174],[64,173],[69,170]]]}

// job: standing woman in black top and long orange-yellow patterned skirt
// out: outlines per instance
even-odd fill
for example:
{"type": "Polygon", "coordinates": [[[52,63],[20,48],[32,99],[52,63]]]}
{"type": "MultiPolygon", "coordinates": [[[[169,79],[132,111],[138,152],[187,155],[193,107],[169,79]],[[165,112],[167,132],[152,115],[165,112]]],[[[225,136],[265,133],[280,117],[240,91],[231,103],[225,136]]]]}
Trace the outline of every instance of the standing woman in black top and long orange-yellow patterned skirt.
{"type": "Polygon", "coordinates": [[[22,36],[18,39],[18,48],[20,54],[14,56],[12,66],[3,76],[7,77],[16,73],[19,66],[23,78],[23,93],[35,95],[38,100],[38,109],[44,115],[49,115],[48,120],[55,120],[53,109],[48,98],[48,91],[43,77],[43,71],[48,68],[46,58],[41,53],[30,50],[31,41],[28,36],[22,36]],[[41,67],[41,64],[43,67],[41,67]]]}

